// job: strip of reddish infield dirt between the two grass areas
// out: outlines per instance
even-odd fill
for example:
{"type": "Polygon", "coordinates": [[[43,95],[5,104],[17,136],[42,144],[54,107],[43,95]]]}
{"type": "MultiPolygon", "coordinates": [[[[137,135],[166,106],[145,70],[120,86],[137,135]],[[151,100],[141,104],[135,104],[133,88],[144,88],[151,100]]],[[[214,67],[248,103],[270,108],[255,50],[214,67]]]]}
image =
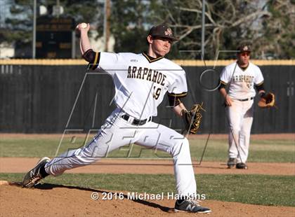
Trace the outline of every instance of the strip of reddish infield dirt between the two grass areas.
{"type": "MultiPolygon", "coordinates": [[[[34,167],[39,158],[0,158],[0,173],[24,173],[34,167]]],[[[100,160],[95,165],[72,169],[70,173],[93,174],[173,174],[171,160],[100,160]]],[[[295,175],[294,163],[249,162],[249,169],[227,169],[225,162],[193,162],[196,174],[268,174],[295,175]]]]}

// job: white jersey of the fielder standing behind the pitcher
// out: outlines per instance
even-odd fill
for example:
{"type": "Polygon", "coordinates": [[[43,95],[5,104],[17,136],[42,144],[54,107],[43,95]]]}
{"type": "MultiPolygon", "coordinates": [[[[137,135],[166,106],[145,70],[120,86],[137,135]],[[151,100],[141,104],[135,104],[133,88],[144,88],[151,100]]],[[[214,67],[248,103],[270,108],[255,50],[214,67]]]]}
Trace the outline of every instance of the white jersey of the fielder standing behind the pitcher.
{"type": "Polygon", "coordinates": [[[254,85],[263,83],[263,75],[259,67],[251,62],[247,69],[241,69],[237,62],[234,62],[221,72],[221,83],[230,83],[228,95],[233,99],[247,99],[255,97],[254,85]]]}

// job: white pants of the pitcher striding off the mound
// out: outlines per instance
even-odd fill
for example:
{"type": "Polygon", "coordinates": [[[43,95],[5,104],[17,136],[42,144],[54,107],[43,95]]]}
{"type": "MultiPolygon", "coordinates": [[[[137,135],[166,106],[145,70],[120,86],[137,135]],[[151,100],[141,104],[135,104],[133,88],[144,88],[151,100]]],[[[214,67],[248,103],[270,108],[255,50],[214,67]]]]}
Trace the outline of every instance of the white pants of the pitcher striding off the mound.
{"type": "Polygon", "coordinates": [[[46,172],[57,176],[63,174],[67,169],[90,165],[117,148],[137,144],[169,153],[173,158],[178,195],[195,195],[197,186],[188,139],[152,121],[141,126],[132,125],[121,118],[123,115],[124,112],[115,109],[87,146],[53,158],[46,164],[46,172]]]}

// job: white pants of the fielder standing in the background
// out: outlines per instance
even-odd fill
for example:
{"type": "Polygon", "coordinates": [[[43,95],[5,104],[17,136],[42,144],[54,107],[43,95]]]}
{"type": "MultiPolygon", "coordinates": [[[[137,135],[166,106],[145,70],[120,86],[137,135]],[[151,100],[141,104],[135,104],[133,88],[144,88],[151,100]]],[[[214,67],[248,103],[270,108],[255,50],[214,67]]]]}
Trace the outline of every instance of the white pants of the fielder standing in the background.
{"type": "Polygon", "coordinates": [[[253,104],[253,99],[244,102],[232,99],[232,106],[226,107],[229,123],[228,157],[237,158],[237,162],[247,162],[253,123],[253,104]]]}

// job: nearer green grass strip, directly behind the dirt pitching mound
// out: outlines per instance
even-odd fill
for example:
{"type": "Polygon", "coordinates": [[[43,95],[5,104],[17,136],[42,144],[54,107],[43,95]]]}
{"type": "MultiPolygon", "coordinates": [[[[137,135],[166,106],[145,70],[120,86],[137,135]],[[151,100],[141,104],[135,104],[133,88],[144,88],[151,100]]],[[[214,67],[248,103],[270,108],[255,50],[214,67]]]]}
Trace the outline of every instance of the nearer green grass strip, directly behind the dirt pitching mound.
{"type": "MultiPolygon", "coordinates": [[[[21,181],[23,174],[0,174],[1,180],[21,181]]],[[[207,200],[295,207],[295,176],[196,175],[198,193],[207,200]]],[[[134,193],[175,193],[169,174],[63,174],[45,183],[134,193]]]]}

